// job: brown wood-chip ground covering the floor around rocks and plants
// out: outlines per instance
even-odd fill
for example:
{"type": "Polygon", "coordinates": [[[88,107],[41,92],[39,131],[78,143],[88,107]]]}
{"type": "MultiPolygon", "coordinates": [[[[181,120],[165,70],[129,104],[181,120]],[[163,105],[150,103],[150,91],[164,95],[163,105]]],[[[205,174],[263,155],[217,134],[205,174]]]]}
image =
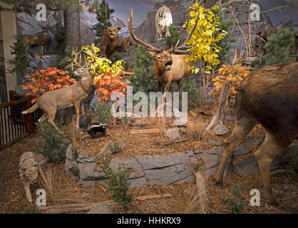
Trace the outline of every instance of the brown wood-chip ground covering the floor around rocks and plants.
{"type": "MultiPolygon", "coordinates": [[[[212,108],[206,108],[202,110],[196,108],[192,110],[194,113],[199,115],[200,120],[205,123],[211,118],[210,113],[214,111],[212,108]],[[202,112],[207,113],[207,115],[202,115],[202,112]],[[201,114],[200,114],[201,113],[201,114]]],[[[191,114],[188,115],[189,120],[194,120],[191,114]]],[[[225,124],[230,130],[233,128],[233,123],[227,121],[225,124]]],[[[148,128],[144,127],[143,129],[148,128]]],[[[128,130],[123,130],[120,125],[111,126],[108,129],[108,137],[98,138],[98,139],[87,139],[81,143],[81,146],[90,148],[92,155],[96,155],[98,147],[101,148],[101,143],[103,144],[106,140],[115,139],[120,142],[125,142],[128,144],[125,150],[119,152],[113,156],[131,156],[131,155],[143,155],[143,154],[168,154],[170,152],[185,152],[187,150],[201,150],[208,145],[204,142],[209,140],[218,140],[222,142],[228,135],[216,138],[211,135],[205,136],[202,141],[197,142],[190,140],[189,142],[183,142],[179,144],[162,146],[161,142],[168,142],[165,137],[160,137],[158,134],[145,134],[145,135],[130,135],[130,130],[135,130],[137,128],[128,128],[128,130]],[[122,140],[120,140],[122,139],[122,140]],[[97,145],[97,148],[96,148],[97,145]],[[93,149],[91,149],[93,147],[93,149]],[[167,152],[150,152],[149,149],[160,149],[160,148],[170,148],[167,152]]],[[[260,126],[256,126],[254,130],[248,136],[264,135],[264,132],[260,126]]],[[[19,179],[19,157],[25,151],[36,151],[35,140],[38,138],[38,134],[30,135],[6,148],[4,151],[0,152],[0,213],[20,213],[29,203],[26,200],[26,195],[24,187],[21,180],[19,179]]],[[[252,155],[250,155],[252,156],[252,155]]],[[[84,202],[102,202],[111,199],[111,194],[106,192],[107,186],[101,185],[96,182],[92,187],[85,187],[78,182],[78,177],[73,177],[73,175],[68,175],[64,170],[64,162],[61,162],[56,167],[48,166],[51,168],[55,181],[58,183],[59,188],[67,189],[71,186],[72,190],[75,190],[79,198],[84,202]]],[[[39,178],[39,177],[38,177],[39,178]]],[[[297,177],[292,175],[278,175],[271,178],[272,190],[277,199],[286,205],[291,212],[298,212],[298,180],[297,177]]],[[[260,181],[257,181],[253,175],[229,175],[224,179],[224,187],[218,187],[217,185],[208,186],[207,188],[207,198],[208,207],[210,208],[210,213],[231,213],[230,209],[227,207],[227,201],[224,195],[232,196],[231,188],[233,184],[237,184],[242,191],[242,195],[239,198],[240,203],[243,204],[244,209],[242,213],[285,213],[284,210],[279,209],[274,206],[267,205],[264,202],[262,187],[260,187],[260,181]],[[261,206],[251,207],[250,206],[250,190],[257,188],[261,192],[261,206]],[[223,194],[221,193],[223,192],[223,194]]],[[[31,185],[31,194],[33,199],[36,199],[34,192],[40,188],[38,183],[31,185]]],[[[193,209],[187,211],[186,208],[190,204],[190,200],[195,196],[196,185],[195,183],[185,183],[180,185],[152,185],[144,186],[139,189],[131,189],[133,192],[134,199],[132,202],[132,207],[128,213],[197,213],[199,212],[199,206],[194,205],[193,209]],[[161,193],[170,193],[172,197],[163,199],[145,199],[140,201],[136,199],[138,196],[144,195],[158,195],[161,193]]],[[[59,202],[53,199],[48,199],[48,206],[56,205],[59,202]]],[[[60,203],[61,204],[61,203],[60,203]]],[[[116,206],[113,206],[115,212],[119,212],[116,206]]],[[[86,212],[81,212],[86,213],[86,212]]]]}

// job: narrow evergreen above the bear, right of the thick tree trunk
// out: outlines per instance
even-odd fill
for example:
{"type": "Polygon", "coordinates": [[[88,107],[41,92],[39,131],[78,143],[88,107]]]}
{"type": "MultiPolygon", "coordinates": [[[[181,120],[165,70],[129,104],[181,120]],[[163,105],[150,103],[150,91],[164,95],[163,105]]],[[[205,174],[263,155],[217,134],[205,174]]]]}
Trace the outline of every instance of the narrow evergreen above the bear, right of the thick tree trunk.
{"type": "Polygon", "coordinates": [[[93,4],[93,9],[96,10],[96,19],[98,20],[98,24],[96,24],[92,28],[96,31],[97,37],[94,41],[94,44],[98,46],[98,44],[101,42],[101,38],[103,38],[103,35],[105,34],[105,27],[112,26],[111,22],[109,22],[108,19],[110,19],[111,14],[115,12],[115,9],[110,9],[106,0],[101,1],[101,4],[98,3],[98,1],[95,1],[93,4]]]}

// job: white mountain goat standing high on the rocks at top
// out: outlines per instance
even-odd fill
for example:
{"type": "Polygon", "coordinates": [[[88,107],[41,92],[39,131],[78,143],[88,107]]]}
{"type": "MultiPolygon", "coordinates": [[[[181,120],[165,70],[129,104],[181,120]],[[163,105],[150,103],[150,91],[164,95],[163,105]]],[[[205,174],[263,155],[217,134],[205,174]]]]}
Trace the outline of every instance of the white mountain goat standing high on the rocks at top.
{"type": "Polygon", "coordinates": [[[155,28],[156,33],[159,38],[163,38],[163,33],[165,36],[170,36],[170,25],[173,24],[172,12],[168,6],[161,6],[155,15],[155,28]]]}

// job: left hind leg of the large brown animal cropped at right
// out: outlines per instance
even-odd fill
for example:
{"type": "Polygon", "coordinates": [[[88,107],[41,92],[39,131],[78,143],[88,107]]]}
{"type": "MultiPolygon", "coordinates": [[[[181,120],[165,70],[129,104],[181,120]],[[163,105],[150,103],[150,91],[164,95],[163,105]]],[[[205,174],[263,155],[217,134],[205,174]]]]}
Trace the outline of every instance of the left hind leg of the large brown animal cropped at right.
{"type": "Polygon", "coordinates": [[[247,118],[246,116],[237,120],[232,135],[223,143],[224,151],[222,153],[222,160],[220,161],[220,167],[217,170],[217,174],[214,177],[215,182],[218,184],[222,185],[222,175],[225,171],[225,167],[227,166],[227,160],[229,159],[230,155],[232,155],[235,147],[237,147],[237,145],[244,140],[245,136],[250,133],[255,125],[255,120],[247,118]]]}

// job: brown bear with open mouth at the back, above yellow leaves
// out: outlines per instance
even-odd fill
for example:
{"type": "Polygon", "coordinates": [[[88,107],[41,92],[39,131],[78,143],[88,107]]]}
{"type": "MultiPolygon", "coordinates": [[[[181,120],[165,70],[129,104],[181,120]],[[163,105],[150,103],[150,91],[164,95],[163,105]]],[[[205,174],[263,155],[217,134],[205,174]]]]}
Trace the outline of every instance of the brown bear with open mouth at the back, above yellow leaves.
{"type": "Polygon", "coordinates": [[[98,48],[101,50],[100,55],[111,58],[115,51],[126,52],[126,48],[123,43],[120,41],[118,31],[121,28],[117,27],[108,27],[106,28],[106,33],[101,39],[98,48]]]}

